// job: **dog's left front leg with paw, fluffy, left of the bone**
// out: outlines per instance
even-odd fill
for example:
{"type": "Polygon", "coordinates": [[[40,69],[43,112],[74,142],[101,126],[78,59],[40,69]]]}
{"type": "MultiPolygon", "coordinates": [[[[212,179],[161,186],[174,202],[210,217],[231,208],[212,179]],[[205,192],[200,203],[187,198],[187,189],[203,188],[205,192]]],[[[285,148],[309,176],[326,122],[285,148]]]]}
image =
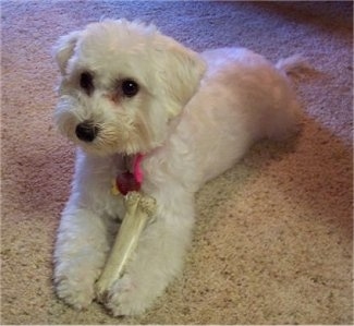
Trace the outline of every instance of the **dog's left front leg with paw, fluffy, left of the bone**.
{"type": "Polygon", "coordinates": [[[94,283],[109,250],[108,220],[74,203],[66,205],[54,250],[54,283],[58,297],[76,309],[87,307],[94,283]]]}

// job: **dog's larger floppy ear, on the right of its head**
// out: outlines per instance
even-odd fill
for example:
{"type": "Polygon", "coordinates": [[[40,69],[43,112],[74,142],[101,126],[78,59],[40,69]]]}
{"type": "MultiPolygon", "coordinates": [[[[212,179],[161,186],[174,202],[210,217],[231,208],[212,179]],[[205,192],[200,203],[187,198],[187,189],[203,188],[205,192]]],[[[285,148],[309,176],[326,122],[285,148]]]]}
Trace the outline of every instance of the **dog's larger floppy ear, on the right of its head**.
{"type": "MultiPolygon", "coordinates": [[[[162,36],[163,37],[163,36],[162,36]]],[[[166,37],[161,47],[156,50],[161,60],[158,63],[158,77],[169,104],[167,110],[170,118],[181,113],[183,107],[196,93],[206,71],[203,58],[185,48],[170,37],[166,37]]]]}

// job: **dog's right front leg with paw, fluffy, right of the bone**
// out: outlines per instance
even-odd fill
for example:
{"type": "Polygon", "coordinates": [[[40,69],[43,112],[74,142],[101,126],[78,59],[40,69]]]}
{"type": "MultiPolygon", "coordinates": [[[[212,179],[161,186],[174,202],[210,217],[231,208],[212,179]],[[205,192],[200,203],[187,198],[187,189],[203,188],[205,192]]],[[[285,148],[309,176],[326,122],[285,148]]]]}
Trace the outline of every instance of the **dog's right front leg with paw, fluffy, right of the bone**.
{"type": "Polygon", "coordinates": [[[123,277],[106,297],[114,316],[143,313],[181,271],[194,224],[192,196],[157,200],[157,216],[142,234],[123,277]]]}

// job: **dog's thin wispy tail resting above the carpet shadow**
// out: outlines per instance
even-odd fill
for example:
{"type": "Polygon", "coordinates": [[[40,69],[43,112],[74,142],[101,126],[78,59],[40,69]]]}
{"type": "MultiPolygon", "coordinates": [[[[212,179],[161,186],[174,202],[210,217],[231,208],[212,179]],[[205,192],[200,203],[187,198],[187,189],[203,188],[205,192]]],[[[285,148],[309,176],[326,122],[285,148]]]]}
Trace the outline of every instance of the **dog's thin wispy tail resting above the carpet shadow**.
{"type": "Polygon", "coordinates": [[[314,71],[314,68],[302,55],[295,55],[286,59],[280,59],[276,68],[289,76],[301,77],[304,74],[314,71]]]}

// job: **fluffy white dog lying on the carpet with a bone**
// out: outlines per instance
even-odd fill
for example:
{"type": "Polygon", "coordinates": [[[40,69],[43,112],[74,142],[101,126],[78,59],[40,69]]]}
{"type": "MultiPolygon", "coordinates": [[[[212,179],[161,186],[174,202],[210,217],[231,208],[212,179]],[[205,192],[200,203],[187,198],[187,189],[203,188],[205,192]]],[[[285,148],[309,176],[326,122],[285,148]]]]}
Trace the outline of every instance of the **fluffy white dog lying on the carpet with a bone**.
{"type": "Polygon", "coordinates": [[[103,302],[115,316],[138,314],[181,271],[195,192],[255,141],[296,129],[286,73],[301,63],[290,58],[273,67],[240,48],[199,55],[125,20],[89,24],[54,50],[62,74],[56,124],[80,147],[54,251],[57,292],[76,309],[96,298],[124,216],[111,181],[138,160],[144,180],[133,188],[156,198],[157,213],[103,302]]]}

